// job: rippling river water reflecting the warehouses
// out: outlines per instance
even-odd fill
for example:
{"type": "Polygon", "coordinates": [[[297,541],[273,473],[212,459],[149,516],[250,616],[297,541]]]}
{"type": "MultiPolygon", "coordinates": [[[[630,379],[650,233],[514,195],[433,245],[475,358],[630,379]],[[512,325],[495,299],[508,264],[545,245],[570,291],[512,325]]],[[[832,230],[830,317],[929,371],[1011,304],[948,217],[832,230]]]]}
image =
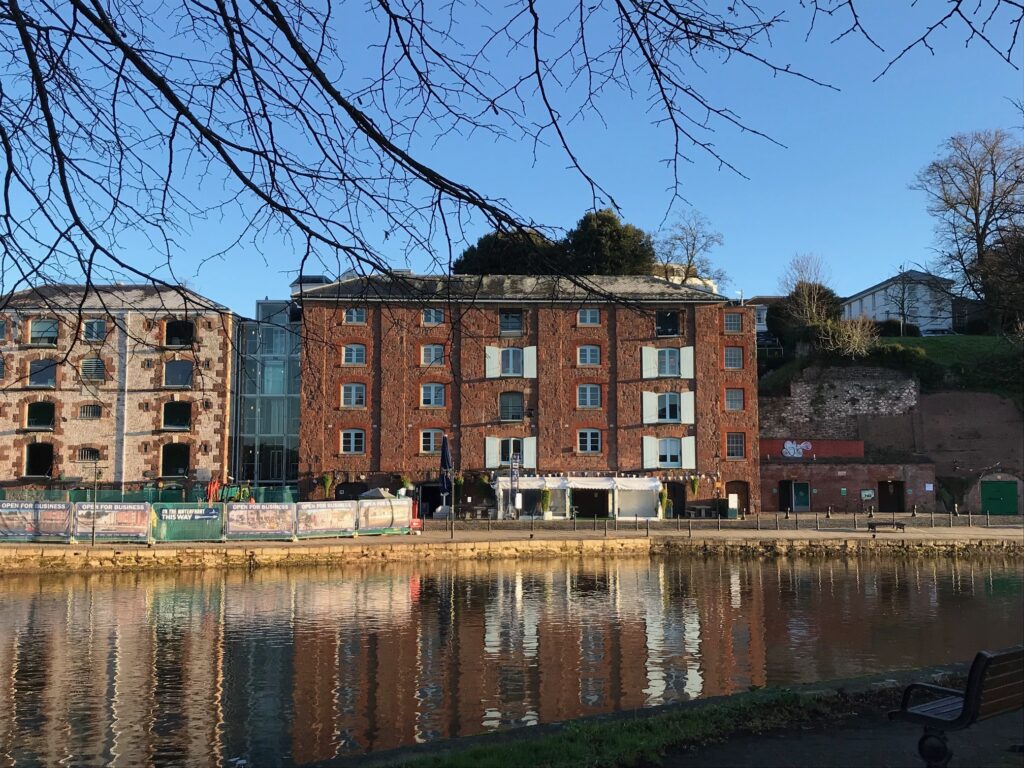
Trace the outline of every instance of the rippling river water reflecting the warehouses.
{"type": "Polygon", "coordinates": [[[618,558],[0,581],[0,765],[301,764],[970,659],[1011,560],[618,558]]]}

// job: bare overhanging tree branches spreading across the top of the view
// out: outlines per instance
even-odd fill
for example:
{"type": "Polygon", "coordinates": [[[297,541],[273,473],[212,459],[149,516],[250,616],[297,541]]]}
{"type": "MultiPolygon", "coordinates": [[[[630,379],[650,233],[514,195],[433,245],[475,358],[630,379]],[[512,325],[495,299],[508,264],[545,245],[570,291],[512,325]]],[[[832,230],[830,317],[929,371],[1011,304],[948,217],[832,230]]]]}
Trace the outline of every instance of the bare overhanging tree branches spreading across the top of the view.
{"type": "MultiPolygon", "coordinates": [[[[1019,0],[931,5],[890,65],[951,25],[1014,60],[1019,0]]],[[[0,0],[0,289],[175,285],[201,218],[236,222],[208,257],[284,240],[300,271],[387,271],[414,252],[446,268],[466,226],[535,222],[435,165],[435,142],[553,145],[595,208],[614,206],[571,130],[611,91],[666,129],[678,190],[694,154],[731,167],[717,131],[764,136],[694,72],[744,61],[819,83],[771,48],[794,20],[877,45],[854,0],[0,0]]]]}

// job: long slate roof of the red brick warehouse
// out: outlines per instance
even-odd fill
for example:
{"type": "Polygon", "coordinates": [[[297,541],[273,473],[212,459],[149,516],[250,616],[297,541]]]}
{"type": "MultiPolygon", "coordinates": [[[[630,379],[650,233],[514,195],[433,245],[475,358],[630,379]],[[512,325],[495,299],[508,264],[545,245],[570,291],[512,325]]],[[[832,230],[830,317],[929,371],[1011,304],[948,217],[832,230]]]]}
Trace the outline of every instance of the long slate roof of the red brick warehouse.
{"type": "Polygon", "coordinates": [[[516,301],[584,302],[628,301],[721,302],[726,297],[670,283],[650,274],[370,274],[342,278],[323,286],[305,286],[295,297],[303,301],[358,299],[360,301],[516,301]]]}

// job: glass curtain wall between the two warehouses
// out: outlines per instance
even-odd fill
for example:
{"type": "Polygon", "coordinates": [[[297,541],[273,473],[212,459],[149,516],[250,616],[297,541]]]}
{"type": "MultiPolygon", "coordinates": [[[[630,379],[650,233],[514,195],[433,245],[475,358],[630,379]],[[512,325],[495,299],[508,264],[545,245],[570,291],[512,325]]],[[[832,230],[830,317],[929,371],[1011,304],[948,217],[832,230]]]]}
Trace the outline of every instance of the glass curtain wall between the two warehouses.
{"type": "Polygon", "coordinates": [[[301,323],[288,301],[260,301],[256,322],[242,324],[236,482],[294,483],[299,473],[301,323]]]}

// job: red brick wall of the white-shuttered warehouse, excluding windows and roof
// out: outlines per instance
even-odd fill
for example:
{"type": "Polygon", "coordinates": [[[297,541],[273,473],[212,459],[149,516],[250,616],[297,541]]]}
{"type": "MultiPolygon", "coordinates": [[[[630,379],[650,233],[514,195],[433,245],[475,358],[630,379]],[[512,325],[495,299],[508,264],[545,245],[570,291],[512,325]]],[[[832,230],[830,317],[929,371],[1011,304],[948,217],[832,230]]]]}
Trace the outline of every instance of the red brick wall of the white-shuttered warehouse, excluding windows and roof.
{"type": "Polygon", "coordinates": [[[753,506],[760,499],[751,308],[707,300],[627,306],[609,300],[568,304],[509,299],[459,305],[306,297],[303,316],[299,474],[307,483],[327,471],[343,482],[436,477],[438,456],[421,450],[421,435],[438,429],[449,436],[457,471],[497,468],[493,462],[487,466],[487,438],[535,437],[536,467],[527,466],[527,474],[620,473],[682,481],[695,471],[706,480],[700,496],[724,496],[727,482],[741,482],[753,506]],[[444,322],[425,326],[424,306],[443,308],[444,322]],[[581,306],[599,309],[599,323],[580,325],[581,306]],[[350,307],[365,308],[366,322],[345,323],[350,307]],[[503,308],[522,310],[521,334],[502,334],[503,308]],[[679,312],[679,335],[655,333],[655,310],[679,312]],[[741,316],[739,332],[724,330],[726,312],[741,316]],[[365,364],[344,362],[346,344],[365,347],[365,364]],[[443,365],[422,365],[425,344],[444,346],[443,365]],[[599,365],[580,365],[583,345],[600,349],[599,365]],[[725,369],[726,346],[741,350],[739,370],[725,369]],[[536,348],[536,378],[528,372],[499,377],[492,371],[488,376],[488,347],[536,348]],[[693,377],[644,378],[642,347],[692,347],[693,377]],[[365,385],[365,407],[342,406],[345,384],[365,385]],[[444,385],[442,407],[421,404],[424,384],[444,385]],[[581,384],[599,387],[599,407],[579,407],[581,384]],[[741,410],[725,410],[727,387],[743,390],[741,410]],[[521,421],[500,419],[500,396],[510,391],[522,393],[521,421]],[[644,424],[645,391],[693,392],[695,423],[644,424]],[[341,452],[341,433],[349,429],[366,435],[362,453],[341,452]],[[599,452],[579,450],[581,429],[600,430],[599,452]],[[742,436],[741,457],[727,458],[729,432],[742,436]],[[695,468],[645,467],[645,436],[695,436],[695,468]]]}

